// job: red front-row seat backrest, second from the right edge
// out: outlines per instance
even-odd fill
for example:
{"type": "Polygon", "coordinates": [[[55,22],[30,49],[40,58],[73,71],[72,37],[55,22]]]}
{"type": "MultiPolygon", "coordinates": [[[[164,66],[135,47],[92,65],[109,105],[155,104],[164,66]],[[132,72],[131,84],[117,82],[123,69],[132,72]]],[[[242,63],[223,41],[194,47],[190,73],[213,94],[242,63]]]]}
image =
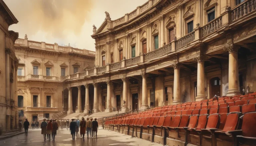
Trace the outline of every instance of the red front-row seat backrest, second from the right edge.
{"type": "Polygon", "coordinates": [[[239,124],[239,116],[240,116],[239,112],[229,113],[227,115],[227,120],[224,125],[223,131],[227,132],[227,131],[236,130],[239,124]]]}

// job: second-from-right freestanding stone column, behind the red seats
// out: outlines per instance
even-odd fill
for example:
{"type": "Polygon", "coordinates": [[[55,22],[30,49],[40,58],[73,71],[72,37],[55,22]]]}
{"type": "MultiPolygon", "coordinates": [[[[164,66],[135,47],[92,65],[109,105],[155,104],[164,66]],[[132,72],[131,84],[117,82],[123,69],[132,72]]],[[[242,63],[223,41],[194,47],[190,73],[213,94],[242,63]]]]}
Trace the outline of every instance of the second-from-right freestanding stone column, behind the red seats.
{"type": "Polygon", "coordinates": [[[204,56],[198,56],[193,58],[197,61],[197,96],[196,101],[206,99],[205,97],[205,84],[204,84],[204,56]]]}

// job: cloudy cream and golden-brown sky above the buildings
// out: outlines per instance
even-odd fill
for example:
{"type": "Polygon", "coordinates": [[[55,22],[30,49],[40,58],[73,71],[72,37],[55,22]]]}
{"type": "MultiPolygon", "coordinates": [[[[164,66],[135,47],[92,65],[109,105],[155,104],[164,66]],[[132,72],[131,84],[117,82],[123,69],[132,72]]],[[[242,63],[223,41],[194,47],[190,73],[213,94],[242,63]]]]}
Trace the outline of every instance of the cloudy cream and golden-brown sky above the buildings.
{"type": "Polygon", "coordinates": [[[57,43],[95,51],[91,38],[93,25],[100,27],[106,15],[116,20],[130,13],[147,0],[4,0],[18,19],[9,30],[19,38],[57,43]]]}

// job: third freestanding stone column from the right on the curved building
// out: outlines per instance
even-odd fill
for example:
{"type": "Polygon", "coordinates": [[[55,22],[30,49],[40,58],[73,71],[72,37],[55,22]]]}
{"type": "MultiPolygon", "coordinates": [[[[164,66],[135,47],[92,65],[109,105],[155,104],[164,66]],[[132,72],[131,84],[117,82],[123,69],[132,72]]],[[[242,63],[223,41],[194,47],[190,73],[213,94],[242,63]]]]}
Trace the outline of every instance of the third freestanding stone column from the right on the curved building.
{"type": "Polygon", "coordinates": [[[172,104],[180,103],[180,64],[172,64],[174,68],[174,80],[173,80],[173,102],[172,104]]]}

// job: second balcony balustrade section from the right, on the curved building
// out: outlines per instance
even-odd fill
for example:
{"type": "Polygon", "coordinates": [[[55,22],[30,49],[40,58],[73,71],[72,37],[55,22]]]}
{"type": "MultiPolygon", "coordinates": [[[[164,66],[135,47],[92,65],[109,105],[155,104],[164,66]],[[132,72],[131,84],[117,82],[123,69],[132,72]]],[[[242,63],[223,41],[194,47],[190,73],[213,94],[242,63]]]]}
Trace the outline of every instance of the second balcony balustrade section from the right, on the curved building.
{"type": "Polygon", "coordinates": [[[202,27],[202,37],[209,35],[212,32],[215,32],[222,26],[222,16],[212,20],[202,27]]]}

